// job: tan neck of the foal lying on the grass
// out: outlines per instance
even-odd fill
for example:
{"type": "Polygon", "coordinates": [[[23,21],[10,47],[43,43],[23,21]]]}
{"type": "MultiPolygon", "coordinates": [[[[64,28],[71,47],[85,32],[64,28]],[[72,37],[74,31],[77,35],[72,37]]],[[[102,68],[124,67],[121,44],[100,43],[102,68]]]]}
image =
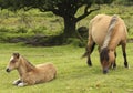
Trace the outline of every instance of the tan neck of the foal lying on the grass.
{"type": "Polygon", "coordinates": [[[20,74],[20,76],[22,76],[23,74],[33,71],[35,69],[34,65],[32,65],[30,62],[28,62],[24,58],[20,56],[20,64],[18,68],[18,72],[20,74]]]}

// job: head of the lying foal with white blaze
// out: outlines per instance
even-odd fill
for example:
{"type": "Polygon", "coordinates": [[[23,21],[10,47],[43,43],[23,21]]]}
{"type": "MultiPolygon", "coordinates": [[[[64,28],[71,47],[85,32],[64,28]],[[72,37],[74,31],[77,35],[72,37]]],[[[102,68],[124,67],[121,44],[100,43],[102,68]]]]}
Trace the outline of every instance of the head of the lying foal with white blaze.
{"type": "Polygon", "coordinates": [[[20,54],[19,53],[13,53],[10,61],[9,61],[9,64],[6,69],[7,72],[10,72],[12,70],[16,70],[18,69],[19,66],[19,58],[20,58],[20,54]]]}

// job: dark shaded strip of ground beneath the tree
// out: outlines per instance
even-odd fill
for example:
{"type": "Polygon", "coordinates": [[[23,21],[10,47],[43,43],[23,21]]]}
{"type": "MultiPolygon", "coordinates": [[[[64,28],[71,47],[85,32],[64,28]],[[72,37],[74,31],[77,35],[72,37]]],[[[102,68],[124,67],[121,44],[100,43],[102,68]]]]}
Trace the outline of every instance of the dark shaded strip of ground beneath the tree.
{"type": "Polygon", "coordinates": [[[54,45],[64,45],[64,44],[73,44],[76,46],[84,46],[86,41],[81,41],[78,38],[64,38],[63,34],[58,35],[43,35],[37,34],[32,37],[16,37],[4,40],[4,42],[9,43],[23,43],[32,46],[54,46],[54,45]]]}

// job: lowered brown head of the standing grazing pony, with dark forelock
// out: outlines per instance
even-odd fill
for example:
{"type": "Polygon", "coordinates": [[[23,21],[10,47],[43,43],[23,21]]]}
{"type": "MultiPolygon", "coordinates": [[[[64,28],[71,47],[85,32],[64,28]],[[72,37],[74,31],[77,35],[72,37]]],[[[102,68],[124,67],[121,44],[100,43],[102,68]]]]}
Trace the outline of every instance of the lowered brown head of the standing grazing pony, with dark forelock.
{"type": "Polygon", "coordinates": [[[101,61],[101,65],[104,74],[109,72],[109,69],[114,63],[114,60],[115,60],[114,51],[111,51],[108,48],[104,48],[101,50],[100,61],[101,61]]]}

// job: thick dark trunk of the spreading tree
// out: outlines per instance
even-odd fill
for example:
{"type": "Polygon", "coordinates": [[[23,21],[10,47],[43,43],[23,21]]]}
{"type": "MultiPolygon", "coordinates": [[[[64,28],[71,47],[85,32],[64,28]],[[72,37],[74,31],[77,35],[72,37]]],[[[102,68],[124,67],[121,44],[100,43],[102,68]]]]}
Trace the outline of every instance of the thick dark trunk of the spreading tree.
{"type": "Polygon", "coordinates": [[[76,31],[75,31],[76,22],[72,18],[64,18],[64,37],[65,38],[75,38],[76,31]]]}

